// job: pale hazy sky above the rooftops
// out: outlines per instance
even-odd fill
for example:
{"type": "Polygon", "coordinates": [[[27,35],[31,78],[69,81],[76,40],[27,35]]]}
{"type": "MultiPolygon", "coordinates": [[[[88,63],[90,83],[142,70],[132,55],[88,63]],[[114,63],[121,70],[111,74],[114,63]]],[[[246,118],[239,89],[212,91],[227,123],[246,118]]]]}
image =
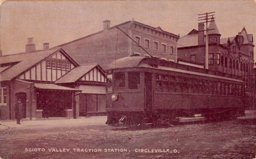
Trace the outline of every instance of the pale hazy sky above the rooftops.
{"type": "Polygon", "coordinates": [[[3,55],[25,52],[31,37],[36,49],[54,47],[101,31],[104,20],[114,26],[134,19],[182,37],[198,29],[198,14],[205,12],[215,12],[221,38],[245,27],[256,40],[254,0],[41,0],[1,3],[0,47],[3,55]]]}

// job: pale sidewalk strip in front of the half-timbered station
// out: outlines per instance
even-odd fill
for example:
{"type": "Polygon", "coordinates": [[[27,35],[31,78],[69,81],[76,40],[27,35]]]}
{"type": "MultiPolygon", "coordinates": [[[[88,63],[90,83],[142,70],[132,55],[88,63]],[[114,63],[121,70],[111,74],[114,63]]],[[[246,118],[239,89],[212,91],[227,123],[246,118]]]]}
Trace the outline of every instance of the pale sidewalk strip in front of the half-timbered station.
{"type": "Polygon", "coordinates": [[[107,121],[107,116],[91,116],[91,117],[81,117],[78,119],[63,119],[63,118],[47,118],[43,120],[26,120],[20,121],[21,124],[17,124],[16,120],[1,120],[0,121],[0,132],[6,130],[8,127],[17,128],[17,127],[29,127],[29,126],[77,126],[77,125],[105,125],[107,121]],[[6,126],[8,127],[6,127],[6,126]]]}

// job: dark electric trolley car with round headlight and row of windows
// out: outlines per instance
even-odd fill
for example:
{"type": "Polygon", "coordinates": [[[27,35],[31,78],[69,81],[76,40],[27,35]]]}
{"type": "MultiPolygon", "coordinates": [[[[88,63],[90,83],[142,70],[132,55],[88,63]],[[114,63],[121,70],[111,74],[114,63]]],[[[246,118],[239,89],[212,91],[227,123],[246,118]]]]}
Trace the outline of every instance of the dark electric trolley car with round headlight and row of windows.
{"type": "Polygon", "coordinates": [[[172,61],[131,56],[109,64],[106,124],[170,124],[178,117],[244,115],[239,76],[172,61]]]}

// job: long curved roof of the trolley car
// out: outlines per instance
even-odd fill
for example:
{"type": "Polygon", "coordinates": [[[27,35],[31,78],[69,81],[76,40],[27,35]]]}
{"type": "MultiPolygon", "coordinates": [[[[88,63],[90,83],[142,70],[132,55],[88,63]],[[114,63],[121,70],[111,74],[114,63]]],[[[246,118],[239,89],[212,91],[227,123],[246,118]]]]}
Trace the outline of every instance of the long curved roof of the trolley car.
{"type": "MultiPolygon", "coordinates": [[[[148,58],[148,57],[143,57],[143,56],[131,56],[131,57],[120,58],[116,61],[111,62],[111,64],[108,65],[108,69],[148,67],[148,68],[152,68],[152,69],[181,72],[181,73],[192,74],[192,75],[201,75],[201,76],[206,76],[206,77],[210,77],[210,78],[219,78],[219,79],[244,83],[244,81],[242,81],[240,79],[236,79],[236,78],[224,77],[221,75],[213,75],[213,74],[204,73],[204,72],[196,72],[196,71],[191,71],[191,70],[187,70],[187,69],[179,69],[179,68],[170,67],[170,66],[158,65],[157,68],[154,68],[153,66],[150,65],[151,63],[148,62],[148,60],[146,60],[146,59],[148,59],[150,61],[163,61],[163,60],[156,59],[156,58],[148,58]]],[[[174,63],[172,61],[166,61],[166,62],[174,63]]],[[[183,64],[178,64],[178,65],[183,65],[183,64]]],[[[187,65],[185,65],[185,66],[187,66],[187,65]]],[[[189,67],[193,67],[193,66],[189,66],[189,67]]]]}

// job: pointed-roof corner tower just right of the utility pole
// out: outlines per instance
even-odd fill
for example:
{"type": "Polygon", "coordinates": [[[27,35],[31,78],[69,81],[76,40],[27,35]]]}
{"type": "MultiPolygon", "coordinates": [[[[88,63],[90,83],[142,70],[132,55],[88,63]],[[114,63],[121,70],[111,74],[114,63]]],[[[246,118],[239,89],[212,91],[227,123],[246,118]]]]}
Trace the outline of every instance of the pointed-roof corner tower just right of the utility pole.
{"type": "MultiPolygon", "coordinates": [[[[212,19],[213,19],[213,17],[212,17],[212,19]]],[[[217,27],[215,21],[210,22],[208,29],[209,29],[209,31],[208,31],[209,43],[220,44],[221,34],[218,31],[218,27],[217,27]],[[212,29],[212,30],[210,30],[210,29],[212,29]]]]}

